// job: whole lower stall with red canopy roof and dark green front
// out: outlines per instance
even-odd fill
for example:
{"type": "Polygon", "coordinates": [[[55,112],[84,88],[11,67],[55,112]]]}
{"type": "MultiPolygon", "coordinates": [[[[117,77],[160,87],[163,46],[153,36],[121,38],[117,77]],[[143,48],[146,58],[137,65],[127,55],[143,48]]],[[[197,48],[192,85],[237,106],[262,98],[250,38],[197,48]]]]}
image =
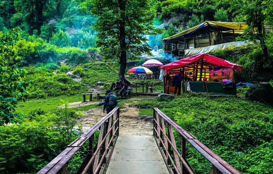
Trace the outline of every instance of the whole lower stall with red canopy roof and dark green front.
{"type": "Polygon", "coordinates": [[[220,82],[223,79],[234,82],[234,70],[241,71],[242,66],[202,53],[161,66],[161,69],[164,70],[163,81],[166,93],[174,92],[174,76],[182,72],[182,84],[190,82],[191,90],[194,92],[218,90],[218,93],[236,94],[236,86],[231,91],[223,90],[220,82]]]}

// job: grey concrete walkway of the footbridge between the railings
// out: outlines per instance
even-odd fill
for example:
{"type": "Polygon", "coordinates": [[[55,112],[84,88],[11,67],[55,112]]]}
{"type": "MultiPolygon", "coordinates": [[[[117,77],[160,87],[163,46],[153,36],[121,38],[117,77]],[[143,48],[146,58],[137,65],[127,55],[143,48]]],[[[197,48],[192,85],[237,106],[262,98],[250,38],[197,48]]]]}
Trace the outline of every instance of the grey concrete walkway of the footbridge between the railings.
{"type": "Polygon", "coordinates": [[[168,174],[153,136],[119,135],[106,174],[168,174]]]}

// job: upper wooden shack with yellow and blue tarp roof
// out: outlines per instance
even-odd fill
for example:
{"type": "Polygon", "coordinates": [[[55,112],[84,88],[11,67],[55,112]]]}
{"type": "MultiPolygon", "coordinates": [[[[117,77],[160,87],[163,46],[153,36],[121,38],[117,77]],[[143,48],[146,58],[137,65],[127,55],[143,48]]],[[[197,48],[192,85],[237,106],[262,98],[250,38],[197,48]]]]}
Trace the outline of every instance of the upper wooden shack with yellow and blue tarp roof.
{"type": "MultiPolygon", "coordinates": [[[[164,53],[173,54],[174,56],[182,58],[185,55],[185,50],[189,52],[191,49],[204,47],[208,47],[207,50],[211,50],[211,48],[209,48],[210,46],[221,44],[221,47],[225,48],[230,47],[231,45],[225,44],[231,42],[234,42],[232,45],[244,45],[246,42],[235,42],[235,38],[242,34],[247,27],[248,25],[244,23],[206,21],[193,28],[163,39],[164,53]]],[[[216,49],[219,48],[217,47],[216,49]]],[[[199,53],[204,52],[199,51],[199,53]]],[[[194,53],[191,55],[194,55],[194,53]]]]}

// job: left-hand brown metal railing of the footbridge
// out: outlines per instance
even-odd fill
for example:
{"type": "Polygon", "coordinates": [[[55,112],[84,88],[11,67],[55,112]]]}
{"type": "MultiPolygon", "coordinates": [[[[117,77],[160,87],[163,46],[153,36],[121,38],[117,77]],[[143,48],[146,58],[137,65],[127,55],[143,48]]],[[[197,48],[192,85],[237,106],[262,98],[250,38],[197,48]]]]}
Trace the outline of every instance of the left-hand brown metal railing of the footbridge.
{"type": "Polygon", "coordinates": [[[115,107],[79,138],[70,143],[56,158],[42,168],[38,174],[70,173],[67,162],[89,140],[89,150],[77,173],[99,173],[104,170],[119,135],[120,108],[115,107]],[[99,131],[98,143],[94,147],[94,133],[99,131]]]}

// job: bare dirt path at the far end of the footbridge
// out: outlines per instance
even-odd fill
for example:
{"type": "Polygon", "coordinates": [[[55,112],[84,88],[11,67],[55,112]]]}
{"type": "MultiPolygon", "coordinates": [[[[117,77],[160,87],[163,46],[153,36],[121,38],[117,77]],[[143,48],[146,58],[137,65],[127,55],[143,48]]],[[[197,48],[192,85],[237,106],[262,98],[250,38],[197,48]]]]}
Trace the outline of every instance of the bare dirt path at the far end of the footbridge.
{"type": "MultiPolygon", "coordinates": [[[[102,108],[90,109],[83,113],[86,115],[78,119],[78,123],[83,125],[83,132],[106,115],[102,108]]],[[[120,135],[152,135],[151,120],[152,117],[139,116],[138,108],[134,104],[125,103],[120,109],[120,135]]]]}

